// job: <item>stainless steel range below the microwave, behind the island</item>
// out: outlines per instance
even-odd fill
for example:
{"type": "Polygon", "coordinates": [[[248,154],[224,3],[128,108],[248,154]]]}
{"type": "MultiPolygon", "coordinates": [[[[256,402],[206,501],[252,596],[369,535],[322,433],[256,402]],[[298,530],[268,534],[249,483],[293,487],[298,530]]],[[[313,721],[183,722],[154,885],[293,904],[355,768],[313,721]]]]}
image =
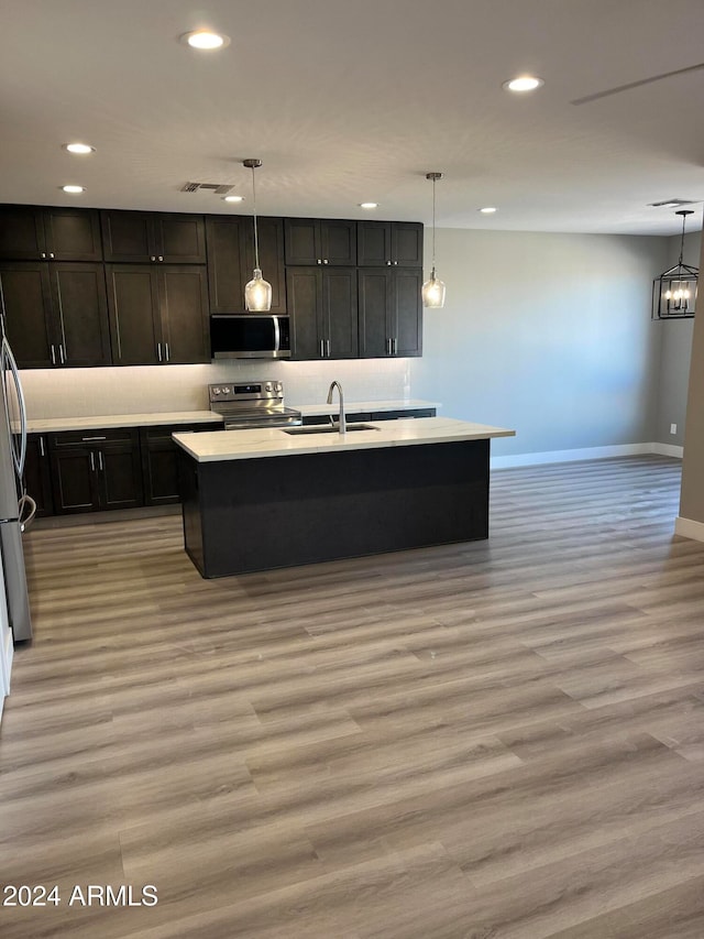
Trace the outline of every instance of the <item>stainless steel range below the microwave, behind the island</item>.
{"type": "Polygon", "coordinates": [[[282,382],[219,382],[208,385],[208,397],[210,410],[222,415],[226,430],[292,427],[302,423],[300,411],[284,407],[282,382]]]}

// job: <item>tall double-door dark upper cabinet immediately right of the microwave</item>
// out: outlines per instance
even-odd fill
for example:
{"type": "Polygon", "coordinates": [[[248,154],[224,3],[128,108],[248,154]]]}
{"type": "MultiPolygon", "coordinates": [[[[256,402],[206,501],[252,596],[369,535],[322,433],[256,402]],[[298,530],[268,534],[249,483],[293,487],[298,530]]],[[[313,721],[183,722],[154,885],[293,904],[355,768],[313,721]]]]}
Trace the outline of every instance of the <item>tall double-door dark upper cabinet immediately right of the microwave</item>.
{"type": "Polygon", "coordinates": [[[286,294],[294,359],[356,358],[355,270],[290,267],[286,271],[286,294]]]}

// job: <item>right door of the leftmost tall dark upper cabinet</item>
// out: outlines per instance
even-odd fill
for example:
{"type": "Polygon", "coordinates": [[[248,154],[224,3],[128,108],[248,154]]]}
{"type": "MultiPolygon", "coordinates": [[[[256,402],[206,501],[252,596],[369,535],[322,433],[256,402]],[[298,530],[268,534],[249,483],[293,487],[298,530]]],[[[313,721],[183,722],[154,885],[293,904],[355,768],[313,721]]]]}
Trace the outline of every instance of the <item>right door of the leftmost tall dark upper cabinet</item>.
{"type": "MultiPolygon", "coordinates": [[[[102,264],[50,264],[58,364],[110,365],[108,298],[102,264]]],[[[56,353],[55,353],[56,356],[56,353]]]]}

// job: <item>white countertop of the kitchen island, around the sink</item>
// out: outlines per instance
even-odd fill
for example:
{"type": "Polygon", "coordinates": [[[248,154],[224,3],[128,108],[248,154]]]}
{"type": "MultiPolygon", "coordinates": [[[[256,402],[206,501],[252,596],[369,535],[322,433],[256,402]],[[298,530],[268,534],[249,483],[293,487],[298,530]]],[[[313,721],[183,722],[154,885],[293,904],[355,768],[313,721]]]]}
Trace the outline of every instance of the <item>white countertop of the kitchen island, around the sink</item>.
{"type": "MultiPolygon", "coordinates": [[[[323,412],[326,413],[326,412],[323,412]]],[[[409,417],[380,421],[378,429],[290,435],[280,428],[220,430],[174,434],[174,440],[198,462],[250,460],[260,457],[293,457],[299,454],[333,454],[344,450],[408,447],[417,444],[448,444],[514,437],[516,432],[486,424],[471,424],[452,417],[409,417]]]]}

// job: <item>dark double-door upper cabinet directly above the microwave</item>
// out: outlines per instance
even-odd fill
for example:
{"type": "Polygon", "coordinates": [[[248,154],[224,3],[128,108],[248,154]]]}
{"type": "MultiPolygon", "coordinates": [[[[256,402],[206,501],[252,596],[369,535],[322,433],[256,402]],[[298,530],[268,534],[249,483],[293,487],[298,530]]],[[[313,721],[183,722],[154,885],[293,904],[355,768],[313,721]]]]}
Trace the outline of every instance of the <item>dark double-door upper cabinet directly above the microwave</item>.
{"type": "MultiPolygon", "coordinates": [[[[284,221],[257,218],[262,276],[272,285],[272,313],[286,313],[284,221]]],[[[244,285],[254,272],[254,222],[246,216],[206,216],[210,313],[246,313],[244,285]]]]}

